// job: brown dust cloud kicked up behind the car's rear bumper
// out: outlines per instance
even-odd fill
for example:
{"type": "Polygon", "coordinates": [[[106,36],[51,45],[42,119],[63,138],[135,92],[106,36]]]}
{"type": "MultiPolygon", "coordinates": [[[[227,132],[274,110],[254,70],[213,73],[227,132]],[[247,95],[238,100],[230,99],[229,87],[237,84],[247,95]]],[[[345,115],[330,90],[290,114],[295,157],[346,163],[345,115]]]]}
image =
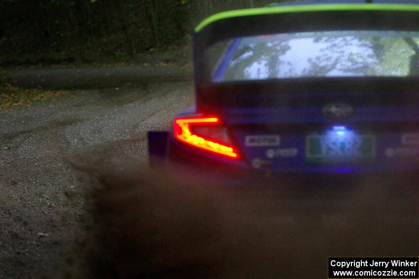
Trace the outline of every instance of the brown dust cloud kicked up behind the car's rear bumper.
{"type": "Polygon", "coordinates": [[[408,177],[302,189],[280,179],[223,185],[135,162],[95,174],[88,259],[97,278],[327,278],[328,256],[419,251],[419,188],[408,177]]]}

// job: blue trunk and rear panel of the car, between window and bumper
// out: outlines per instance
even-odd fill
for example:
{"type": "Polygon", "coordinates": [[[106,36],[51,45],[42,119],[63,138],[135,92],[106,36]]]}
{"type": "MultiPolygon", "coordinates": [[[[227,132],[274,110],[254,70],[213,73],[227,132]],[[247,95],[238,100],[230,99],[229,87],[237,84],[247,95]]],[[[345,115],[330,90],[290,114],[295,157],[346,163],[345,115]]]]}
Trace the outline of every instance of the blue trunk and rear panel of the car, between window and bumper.
{"type": "Polygon", "coordinates": [[[406,78],[252,82],[200,89],[197,109],[220,116],[256,172],[406,172],[419,169],[417,88],[406,78]],[[334,117],[333,104],[352,112],[334,117]],[[360,139],[358,154],[322,156],[338,135],[360,139]]]}

